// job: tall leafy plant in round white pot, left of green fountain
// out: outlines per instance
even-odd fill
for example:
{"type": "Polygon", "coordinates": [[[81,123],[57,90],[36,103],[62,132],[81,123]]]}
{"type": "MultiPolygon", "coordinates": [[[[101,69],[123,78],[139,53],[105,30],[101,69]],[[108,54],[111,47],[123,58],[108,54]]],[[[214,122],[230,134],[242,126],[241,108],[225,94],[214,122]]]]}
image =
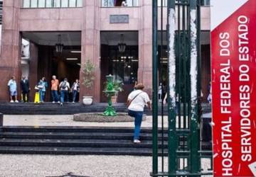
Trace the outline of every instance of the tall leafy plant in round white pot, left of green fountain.
{"type": "MultiPolygon", "coordinates": [[[[92,64],[92,62],[90,62],[90,60],[88,59],[87,62],[85,62],[85,64],[83,64],[82,66],[82,73],[83,73],[82,85],[84,85],[88,91],[93,90],[92,86],[93,86],[93,81],[95,80],[94,72],[95,72],[95,65],[92,64]]],[[[93,98],[91,95],[82,97],[82,103],[84,105],[91,105],[92,102],[93,102],[93,98]]]]}

